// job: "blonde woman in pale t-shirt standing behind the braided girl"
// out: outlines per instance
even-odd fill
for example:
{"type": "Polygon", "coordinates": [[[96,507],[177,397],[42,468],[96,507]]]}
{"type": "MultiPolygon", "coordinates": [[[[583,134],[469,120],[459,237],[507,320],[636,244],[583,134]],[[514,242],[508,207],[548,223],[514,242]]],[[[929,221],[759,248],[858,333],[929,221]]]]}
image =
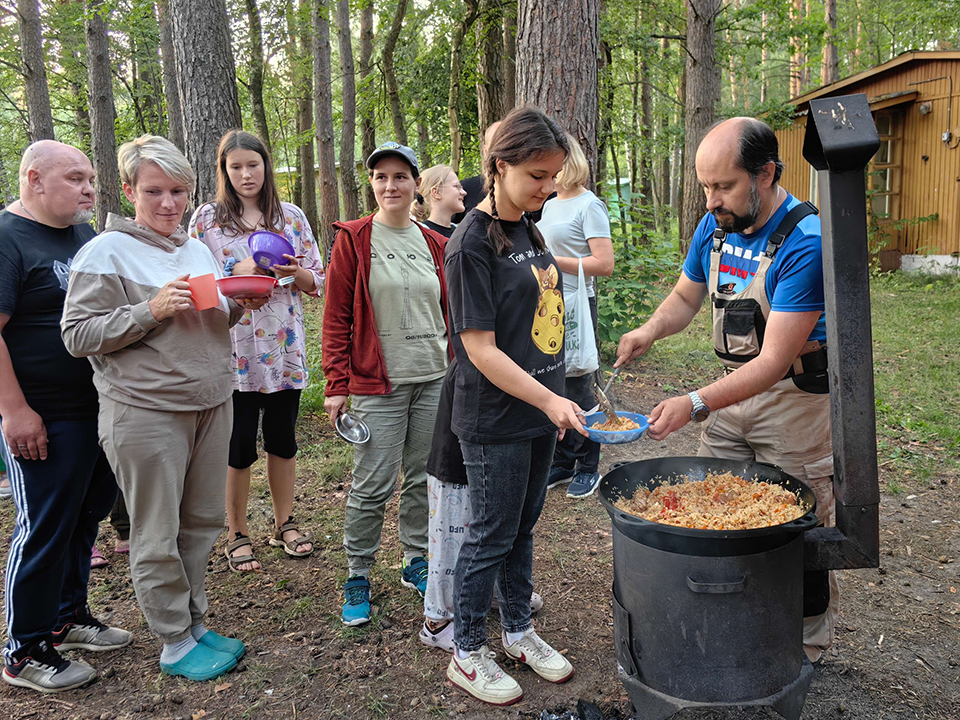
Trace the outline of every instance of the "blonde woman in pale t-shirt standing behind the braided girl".
{"type": "MultiPolygon", "coordinates": [[[[565,295],[576,291],[580,263],[587,280],[590,315],[597,327],[597,298],[594,278],[613,274],[613,242],[607,206],[584,184],[590,166],[576,138],[567,135],[570,152],[557,176],[557,197],[547,200],[537,229],[547,241],[563,274],[565,295]]],[[[593,407],[593,373],[580,377],[567,375],[566,397],[582,408],[593,407]]],[[[577,433],[567,433],[557,443],[547,487],[569,482],[569,497],[588,497],[600,482],[598,471],[600,446],[577,433]],[[572,480],[572,482],[571,482],[572,480]]]]}

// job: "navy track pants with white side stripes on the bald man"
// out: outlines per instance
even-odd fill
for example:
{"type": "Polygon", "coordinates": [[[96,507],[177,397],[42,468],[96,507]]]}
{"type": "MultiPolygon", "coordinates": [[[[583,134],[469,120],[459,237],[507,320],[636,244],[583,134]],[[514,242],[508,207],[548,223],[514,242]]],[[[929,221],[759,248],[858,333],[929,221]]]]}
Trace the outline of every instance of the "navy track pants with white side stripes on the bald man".
{"type": "Polygon", "coordinates": [[[3,441],[17,510],[7,556],[7,658],[87,604],[90,550],[117,498],[96,419],[51,420],[46,428],[46,460],[12,458],[3,441]]]}

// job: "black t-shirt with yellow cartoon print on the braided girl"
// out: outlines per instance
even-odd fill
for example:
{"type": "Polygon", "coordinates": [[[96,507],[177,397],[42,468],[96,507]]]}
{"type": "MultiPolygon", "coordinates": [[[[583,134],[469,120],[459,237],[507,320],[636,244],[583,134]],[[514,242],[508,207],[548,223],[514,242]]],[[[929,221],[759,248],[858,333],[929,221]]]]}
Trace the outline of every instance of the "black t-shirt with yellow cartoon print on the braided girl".
{"type": "Polygon", "coordinates": [[[542,385],[564,388],[563,287],[549,252],[535,249],[525,221],[501,220],[513,249],[497,256],[492,218],[472,210],[447,243],[444,266],[457,357],[454,432],[473,443],[511,443],[556,432],[539,409],[508,395],[470,362],[460,333],[495,333],[497,347],[542,385]]]}

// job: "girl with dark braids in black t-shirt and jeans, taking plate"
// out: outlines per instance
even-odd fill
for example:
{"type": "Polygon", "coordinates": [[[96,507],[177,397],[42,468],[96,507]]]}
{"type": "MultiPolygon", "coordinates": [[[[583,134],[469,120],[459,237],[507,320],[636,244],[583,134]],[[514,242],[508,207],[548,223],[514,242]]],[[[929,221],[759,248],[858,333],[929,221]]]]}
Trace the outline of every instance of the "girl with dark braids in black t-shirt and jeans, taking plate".
{"type": "Polygon", "coordinates": [[[525,218],[553,192],[566,155],[563,130],[542,111],[507,115],[484,160],[487,197],[457,227],[445,257],[457,364],[450,427],[463,451],[473,515],[454,573],[447,677],[497,705],[518,701],[523,691],[487,646],[494,586],[505,653],[551,682],[573,675],[530,622],[533,527],[554,446],[565,431],[586,435],[582,411],[563,397],[560,272],[525,218]]]}

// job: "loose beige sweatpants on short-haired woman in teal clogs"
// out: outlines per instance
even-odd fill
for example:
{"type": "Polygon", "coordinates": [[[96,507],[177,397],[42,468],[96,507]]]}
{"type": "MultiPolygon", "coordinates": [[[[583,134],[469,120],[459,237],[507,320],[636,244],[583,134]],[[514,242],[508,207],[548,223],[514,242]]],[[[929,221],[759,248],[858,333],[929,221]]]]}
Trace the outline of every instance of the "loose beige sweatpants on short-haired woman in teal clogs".
{"type": "Polygon", "coordinates": [[[179,642],[207,612],[207,560],[223,531],[233,403],[158,412],[100,396],[100,442],[130,514],[130,571],[150,629],[179,642]]]}

